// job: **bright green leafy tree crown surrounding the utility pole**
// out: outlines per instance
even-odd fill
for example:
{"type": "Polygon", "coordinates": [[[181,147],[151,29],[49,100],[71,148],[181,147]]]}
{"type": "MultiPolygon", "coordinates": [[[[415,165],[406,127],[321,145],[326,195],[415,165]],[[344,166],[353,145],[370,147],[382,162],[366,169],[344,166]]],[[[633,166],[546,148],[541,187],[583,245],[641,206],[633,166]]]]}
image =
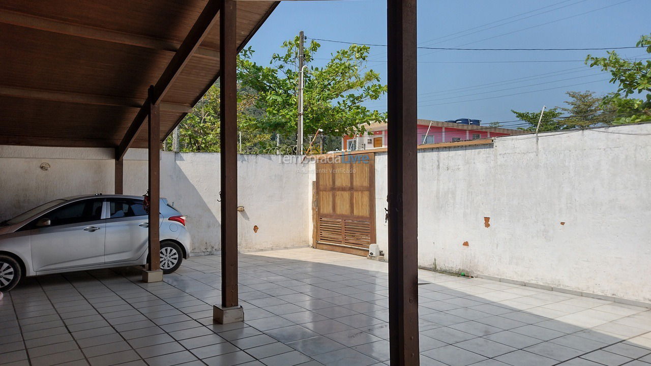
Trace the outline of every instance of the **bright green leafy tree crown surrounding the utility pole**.
{"type": "MultiPolygon", "coordinates": [[[[284,53],[271,56],[271,66],[251,61],[253,50],[245,49],[238,61],[238,77],[245,87],[257,92],[255,106],[264,115],[251,120],[256,128],[284,137],[296,135],[298,94],[298,36],[283,43],[284,53]]],[[[305,136],[318,128],[326,135],[341,136],[364,132],[365,124],[386,119],[385,113],[363,106],[387,92],[380,74],[366,68],[368,46],[352,45],[331,54],[324,67],[310,66],[320,44],[305,46],[305,89],[303,119],[305,136]]]]}

